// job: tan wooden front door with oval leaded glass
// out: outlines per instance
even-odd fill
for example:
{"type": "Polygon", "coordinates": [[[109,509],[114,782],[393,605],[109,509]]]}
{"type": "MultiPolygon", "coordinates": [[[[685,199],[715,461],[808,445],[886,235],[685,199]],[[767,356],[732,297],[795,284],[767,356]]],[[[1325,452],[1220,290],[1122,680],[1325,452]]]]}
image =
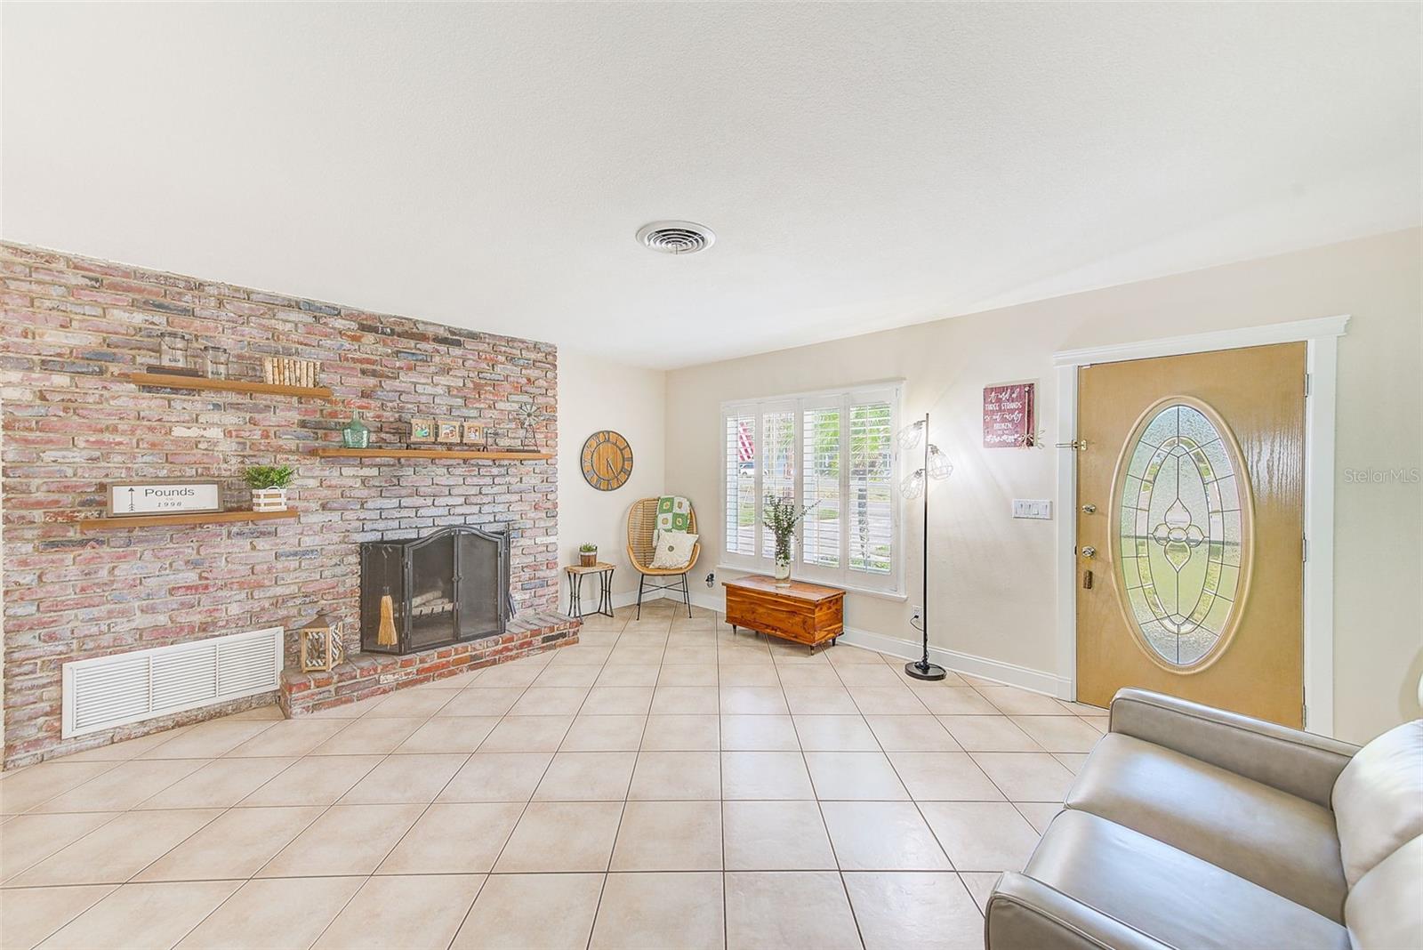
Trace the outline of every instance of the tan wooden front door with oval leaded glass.
{"type": "Polygon", "coordinates": [[[1077,698],[1303,722],[1305,344],[1079,370],[1077,698]]]}

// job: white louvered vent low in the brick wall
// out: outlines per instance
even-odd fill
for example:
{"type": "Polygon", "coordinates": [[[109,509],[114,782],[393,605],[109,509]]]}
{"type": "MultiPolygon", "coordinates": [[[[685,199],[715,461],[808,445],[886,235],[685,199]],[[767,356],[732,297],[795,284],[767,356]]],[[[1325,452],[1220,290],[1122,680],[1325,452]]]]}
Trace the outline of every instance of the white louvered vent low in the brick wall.
{"type": "Polygon", "coordinates": [[[282,627],[64,664],[63,737],[276,690],[282,627]]]}

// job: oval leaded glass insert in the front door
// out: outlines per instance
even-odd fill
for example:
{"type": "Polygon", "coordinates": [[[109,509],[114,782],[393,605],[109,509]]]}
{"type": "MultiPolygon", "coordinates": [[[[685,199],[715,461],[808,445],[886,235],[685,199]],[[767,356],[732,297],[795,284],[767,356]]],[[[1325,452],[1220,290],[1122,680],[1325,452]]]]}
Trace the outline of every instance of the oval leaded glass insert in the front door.
{"type": "Polygon", "coordinates": [[[1147,410],[1117,466],[1117,563],[1127,624],[1153,660],[1204,668],[1229,641],[1249,572],[1249,485],[1204,402],[1147,410]]]}

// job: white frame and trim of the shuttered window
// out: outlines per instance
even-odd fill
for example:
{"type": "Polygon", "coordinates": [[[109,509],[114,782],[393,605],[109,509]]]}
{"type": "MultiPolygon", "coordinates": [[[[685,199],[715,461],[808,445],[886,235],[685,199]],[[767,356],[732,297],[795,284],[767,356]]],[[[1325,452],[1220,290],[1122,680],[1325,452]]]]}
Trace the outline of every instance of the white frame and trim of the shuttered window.
{"type": "MultiPolygon", "coordinates": [[[[794,479],[794,496],[795,503],[804,503],[801,501],[801,492],[804,488],[804,472],[801,471],[804,465],[804,451],[803,451],[803,425],[804,425],[804,408],[813,408],[807,404],[814,404],[817,401],[825,402],[828,400],[841,400],[847,407],[857,397],[884,394],[889,401],[889,432],[891,438],[899,432],[901,427],[901,412],[904,401],[904,380],[887,380],[882,383],[865,383],[848,387],[834,387],[828,390],[811,390],[804,393],[790,393],[783,395],[768,395],[756,400],[729,400],[721,404],[720,412],[720,432],[719,439],[721,444],[720,449],[720,474],[717,476],[720,491],[717,493],[717,515],[721,532],[721,559],[719,567],[726,567],[729,570],[747,570],[757,573],[768,573],[771,570],[771,553],[757,553],[754,556],[740,555],[727,550],[727,438],[726,438],[726,421],[729,415],[741,415],[747,410],[756,417],[756,451],[760,457],[764,441],[763,429],[763,414],[767,411],[793,411],[794,418],[794,445],[795,445],[795,479],[794,479]]],[[[850,438],[848,431],[848,412],[847,412],[847,428],[841,432],[841,459],[844,459],[845,439],[850,438]]],[[[805,565],[801,562],[801,548],[800,536],[797,536],[795,543],[795,562],[791,566],[791,576],[800,577],[803,580],[827,583],[835,587],[844,587],[845,590],[852,590],[855,593],[865,593],[879,597],[889,597],[895,600],[904,600],[908,594],[905,592],[905,550],[904,550],[904,498],[899,495],[899,478],[901,478],[901,459],[899,459],[899,445],[898,441],[892,442],[892,455],[889,462],[889,532],[891,532],[891,569],[889,575],[882,580],[877,582],[874,575],[851,570],[848,559],[848,530],[841,530],[841,566],[835,569],[817,567],[814,565],[805,565]]],[[[757,459],[756,466],[756,533],[757,550],[761,548],[761,475],[764,466],[757,459]]],[[[847,465],[841,465],[841,499],[848,499],[848,479],[850,469],[847,465]]],[[[842,501],[844,505],[844,501],[842,501]]],[[[842,525],[848,522],[848,505],[845,506],[845,515],[842,525]]]]}

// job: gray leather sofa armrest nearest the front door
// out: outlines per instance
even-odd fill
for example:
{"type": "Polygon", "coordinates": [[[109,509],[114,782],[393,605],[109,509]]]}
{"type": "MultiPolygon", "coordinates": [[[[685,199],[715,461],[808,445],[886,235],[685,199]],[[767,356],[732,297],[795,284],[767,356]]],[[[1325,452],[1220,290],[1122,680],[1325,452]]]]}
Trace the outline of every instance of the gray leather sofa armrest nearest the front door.
{"type": "Polygon", "coordinates": [[[1110,728],[1325,808],[1335,779],[1359,751],[1323,735],[1146,690],[1117,691],[1110,728]]]}

